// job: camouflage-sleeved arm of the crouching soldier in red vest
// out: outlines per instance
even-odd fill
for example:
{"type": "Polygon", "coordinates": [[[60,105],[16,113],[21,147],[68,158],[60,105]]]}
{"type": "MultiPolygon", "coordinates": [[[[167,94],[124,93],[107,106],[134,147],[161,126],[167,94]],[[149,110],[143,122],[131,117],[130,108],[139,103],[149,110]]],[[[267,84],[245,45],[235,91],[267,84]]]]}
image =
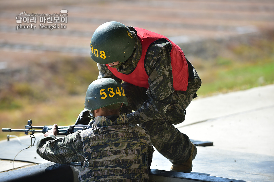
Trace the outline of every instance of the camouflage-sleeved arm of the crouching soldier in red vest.
{"type": "Polygon", "coordinates": [[[149,88],[146,93],[150,99],[127,115],[130,123],[138,124],[165,115],[174,92],[170,51],[171,43],[166,40],[153,44],[148,51],[145,69],[149,75],[149,88]]]}

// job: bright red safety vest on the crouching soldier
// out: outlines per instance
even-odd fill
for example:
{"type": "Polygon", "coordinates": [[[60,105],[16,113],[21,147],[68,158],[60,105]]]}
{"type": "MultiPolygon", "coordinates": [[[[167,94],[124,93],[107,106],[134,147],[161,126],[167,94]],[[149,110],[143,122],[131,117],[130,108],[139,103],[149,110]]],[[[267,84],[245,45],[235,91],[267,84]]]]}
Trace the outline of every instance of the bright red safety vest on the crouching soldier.
{"type": "Polygon", "coordinates": [[[116,68],[112,68],[108,64],[106,64],[106,66],[113,73],[113,75],[135,86],[148,88],[149,76],[145,72],[145,67],[144,67],[144,60],[145,60],[145,55],[147,53],[147,49],[154,41],[159,39],[166,39],[170,43],[172,43],[170,57],[171,57],[171,67],[172,67],[172,75],[173,75],[173,87],[175,90],[182,90],[182,91],[187,90],[189,73],[188,73],[187,61],[185,59],[185,55],[182,49],[165,36],[162,36],[160,34],[157,34],[142,28],[135,28],[135,30],[137,31],[137,37],[139,38],[142,44],[141,58],[138,61],[136,68],[130,74],[119,73],[116,68]]]}

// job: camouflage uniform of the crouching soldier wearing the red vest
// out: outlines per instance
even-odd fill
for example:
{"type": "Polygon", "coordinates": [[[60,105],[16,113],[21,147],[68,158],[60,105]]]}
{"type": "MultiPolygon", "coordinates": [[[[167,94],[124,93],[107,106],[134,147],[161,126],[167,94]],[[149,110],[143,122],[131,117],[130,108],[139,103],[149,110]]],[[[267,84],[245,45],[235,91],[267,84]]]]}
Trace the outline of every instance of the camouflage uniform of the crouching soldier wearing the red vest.
{"type": "MultiPolygon", "coordinates": [[[[117,68],[118,72],[123,74],[129,74],[135,69],[142,54],[141,42],[134,28],[129,28],[135,37],[135,52],[129,60],[117,68]]],[[[149,77],[148,89],[122,83],[129,102],[128,106],[122,108],[122,112],[127,113],[130,123],[139,124],[149,131],[152,144],[162,155],[172,163],[180,164],[191,155],[192,145],[188,136],[178,131],[173,124],[179,124],[185,120],[185,108],[197,96],[196,92],[201,86],[201,79],[192,64],[187,61],[189,66],[187,90],[174,90],[170,61],[171,48],[172,44],[163,39],[155,41],[150,46],[145,58],[145,71],[148,75],[152,75],[152,72],[156,70],[159,76],[153,79],[149,77]]],[[[97,66],[98,78],[109,77],[119,80],[105,64],[97,63],[97,66]]]]}

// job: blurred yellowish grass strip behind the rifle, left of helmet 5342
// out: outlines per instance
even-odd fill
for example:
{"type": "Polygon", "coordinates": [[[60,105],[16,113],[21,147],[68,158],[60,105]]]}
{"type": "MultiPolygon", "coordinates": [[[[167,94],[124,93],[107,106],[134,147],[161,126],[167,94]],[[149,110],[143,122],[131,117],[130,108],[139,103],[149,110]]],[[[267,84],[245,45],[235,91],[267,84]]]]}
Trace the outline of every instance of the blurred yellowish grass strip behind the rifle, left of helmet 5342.
{"type": "MultiPolygon", "coordinates": [[[[85,96],[59,97],[52,101],[41,103],[30,103],[22,101],[24,107],[6,109],[0,111],[0,127],[12,129],[25,129],[27,121],[32,119],[33,126],[72,125],[75,123],[79,113],[84,109],[85,96]]],[[[24,133],[0,132],[0,140],[6,139],[7,134],[22,136],[24,133]]]]}

